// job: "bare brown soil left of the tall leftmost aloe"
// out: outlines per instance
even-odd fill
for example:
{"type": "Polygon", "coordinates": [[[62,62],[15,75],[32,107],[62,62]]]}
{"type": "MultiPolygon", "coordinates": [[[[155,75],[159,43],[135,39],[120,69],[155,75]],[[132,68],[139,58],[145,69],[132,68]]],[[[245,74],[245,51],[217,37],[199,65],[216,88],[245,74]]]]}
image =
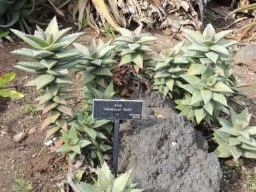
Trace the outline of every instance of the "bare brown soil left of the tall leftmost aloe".
{"type": "MultiPolygon", "coordinates": [[[[33,90],[22,87],[33,76],[13,68],[15,63],[24,58],[9,53],[24,45],[4,47],[0,47],[0,72],[14,71],[17,75],[15,81],[8,86],[24,93],[27,101],[35,99],[33,90]]],[[[24,111],[26,100],[0,99],[0,191],[10,191],[14,179],[19,178],[31,182],[36,191],[58,191],[56,183],[64,175],[60,164],[65,164],[60,162],[61,156],[49,154],[49,149],[44,148],[45,132],[40,131],[44,116],[31,116],[28,111],[24,111]],[[24,141],[13,141],[15,134],[31,129],[35,129],[34,133],[28,134],[24,141]]]]}

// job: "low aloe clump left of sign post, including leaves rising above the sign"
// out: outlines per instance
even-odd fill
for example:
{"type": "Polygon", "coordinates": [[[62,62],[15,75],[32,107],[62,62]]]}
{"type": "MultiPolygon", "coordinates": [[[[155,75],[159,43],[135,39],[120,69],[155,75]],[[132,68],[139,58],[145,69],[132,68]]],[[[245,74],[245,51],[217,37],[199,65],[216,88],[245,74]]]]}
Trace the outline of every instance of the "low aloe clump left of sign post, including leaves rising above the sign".
{"type": "Polygon", "coordinates": [[[84,155],[91,164],[94,164],[95,159],[98,159],[99,163],[102,164],[104,153],[112,148],[108,136],[111,136],[113,126],[109,120],[94,120],[92,118],[92,100],[95,98],[112,99],[115,95],[113,83],[110,83],[106,90],[100,91],[93,86],[86,86],[84,89],[86,100],[83,108],[73,108],[73,118],[67,118],[66,121],[62,120],[62,122],[61,120],[57,121],[56,126],[47,131],[46,140],[58,136],[59,142],[63,145],[56,152],[65,152],[72,161],[76,160],[78,155],[84,155]],[[60,132],[62,136],[60,136],[60,132]],[[80,145],[82,142],[80,140],[83,140],[83,144],[85,143],[84,140],[90,143],[80,145]]]}

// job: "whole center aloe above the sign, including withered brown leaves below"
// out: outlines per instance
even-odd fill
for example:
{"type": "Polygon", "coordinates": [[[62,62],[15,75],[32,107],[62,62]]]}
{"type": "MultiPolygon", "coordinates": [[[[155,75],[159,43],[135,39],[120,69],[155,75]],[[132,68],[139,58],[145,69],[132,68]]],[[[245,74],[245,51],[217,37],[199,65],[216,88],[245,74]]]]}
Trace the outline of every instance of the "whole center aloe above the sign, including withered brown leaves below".
{"type": "Polygon", "coordinates": [[[154,76],[156,54],[151,47],[157,38],[149,34],[141,34],[142,26],[134,31],[120,28],[122,36],[114,39],[117,46],[114,52],[118,65],[113,67],[113,81],[116,90],[124,97],[145,85],[150,90],[150,80],[154,76]]]}

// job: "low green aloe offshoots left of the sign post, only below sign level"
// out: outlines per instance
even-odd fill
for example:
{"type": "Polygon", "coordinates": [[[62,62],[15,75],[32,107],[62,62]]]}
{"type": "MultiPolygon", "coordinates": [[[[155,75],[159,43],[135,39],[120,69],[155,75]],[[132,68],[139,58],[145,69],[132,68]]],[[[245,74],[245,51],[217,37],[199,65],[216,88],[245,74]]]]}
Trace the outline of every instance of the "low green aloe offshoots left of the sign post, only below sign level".
{"type": "Polygon", "coordinates": [[[56,153],[66,153],[71,161],[76,160],[79,155],[86,156],[86,159],[94,165],[94,160],[98,159],[102,164],[104,153],[111,150],[111,141],[106,135],[111,135],[112,125],[109,120],[93,120],[92,115],[83,112],[82,109],[73,109],[76,120],[66,127],[60,125],[52,127],[47,131],[47,140],[61,132],[59,136],[61,145],[56,149],[56,153]],[[68,129],[68,127],[71,128],[68,129]],[[109,145],[110,144],[110,145],[109,145]]]}

